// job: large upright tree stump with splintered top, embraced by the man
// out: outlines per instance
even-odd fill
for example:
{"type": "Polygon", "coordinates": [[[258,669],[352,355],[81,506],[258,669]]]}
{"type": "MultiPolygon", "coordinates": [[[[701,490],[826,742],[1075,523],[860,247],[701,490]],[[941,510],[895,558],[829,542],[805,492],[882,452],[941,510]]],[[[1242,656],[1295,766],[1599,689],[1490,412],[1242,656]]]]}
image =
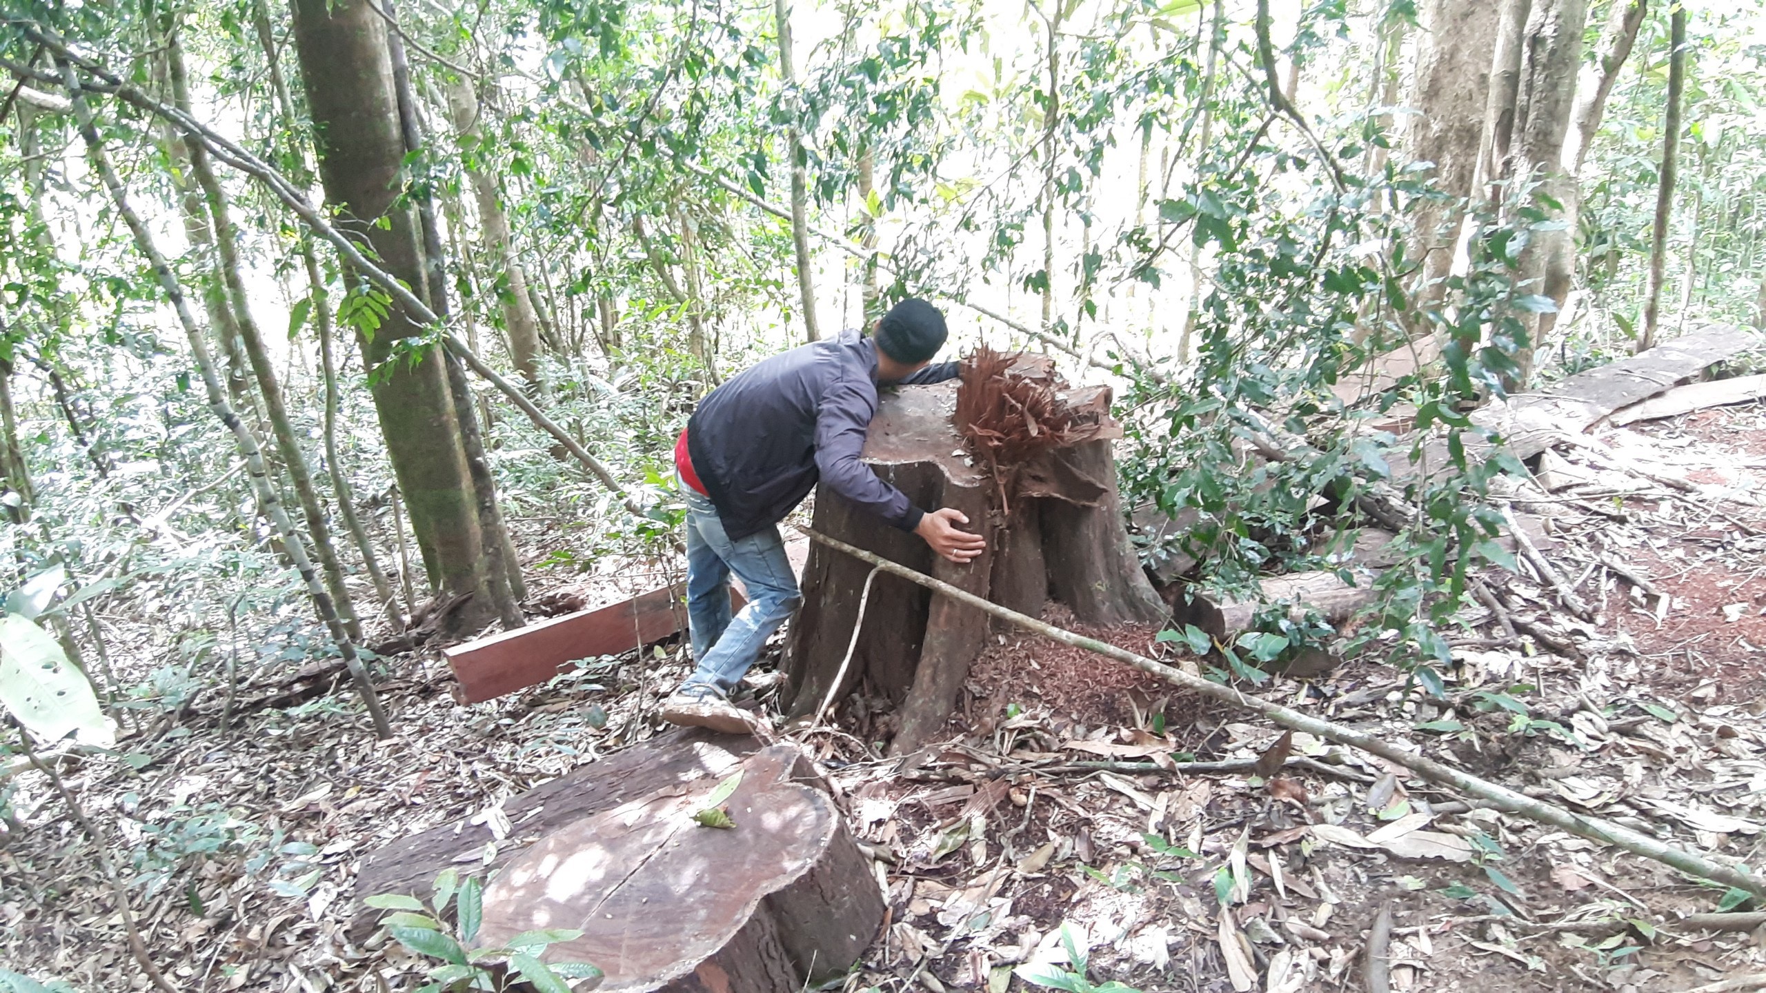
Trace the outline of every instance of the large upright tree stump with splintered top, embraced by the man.
{"type": "MultiPolygon", "coordinates": [[[[1037,449],[1033,456],[1014,461],[1008,456],[1024,445],[982,449],[964,440],[955,422],[959,390],[985,378],[975,368],[961,387],[952,382],[885,394],[864,451],[865,461],[917,505],[962,511],[970,527],[987,535],[987,555],[954,565],[918,537],[828,491],[816,496],[816,530],[1023,613],[1040,613],[1054,599],[1088,624],[1164,622],[1167,608],[1141,571],[1116,496],[1111,440],[1120,428],[1107,415],[1109,389],[1065,389],[1047,362],[1031,357],[1017,357],[1008,375],[1019,396],[1037,399],[1026,390],[1040,390],[1040,406],[1030,403],[1033,410],[1024,412],[1017,399],[996,406],[1061,424],[1054,433],[1045,426],[1017,431],[1019,440],[1037,436],[1028,445],[1037,449]]],[[[991,422],[982,436],[1010,428],[991,422]]],[[[804,608],[786,645],[789,707],[793,716],[814,714],[830,689],[839,698],[865,682],[901,705],[892,744],[899,754],[936,737],[991,625],[975,608],[879,574],[853,657],[835,686],[869,571],[821,544],[811,548],[804,608]]]]}

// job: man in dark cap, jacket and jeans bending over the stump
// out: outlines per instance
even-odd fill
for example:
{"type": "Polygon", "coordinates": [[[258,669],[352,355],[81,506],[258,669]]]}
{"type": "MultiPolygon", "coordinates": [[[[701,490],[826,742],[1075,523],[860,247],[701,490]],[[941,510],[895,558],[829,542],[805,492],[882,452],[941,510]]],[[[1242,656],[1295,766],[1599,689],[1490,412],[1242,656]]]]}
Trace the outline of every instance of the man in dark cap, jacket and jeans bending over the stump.
{"type": "Polygon", "coordinates": [[[982,553],[985,541],[955,527],[970,523],[961,511],[922,511],[858,459],[878,412],[878,383],[957,376],[955,362],[931,364],[945,336],[945,315],[908,299],[883,315],[874,337],[848,332],[793,348],[699,401],[675,443],[687,495],[687,624],[698,668],[662,703],[666,721],[726,733],[751,728],[729,691],[800,603],[779,521],[818,481],[952,562],[982,553]],[[731,572],[749,594],[735,618],[731,572]]]}

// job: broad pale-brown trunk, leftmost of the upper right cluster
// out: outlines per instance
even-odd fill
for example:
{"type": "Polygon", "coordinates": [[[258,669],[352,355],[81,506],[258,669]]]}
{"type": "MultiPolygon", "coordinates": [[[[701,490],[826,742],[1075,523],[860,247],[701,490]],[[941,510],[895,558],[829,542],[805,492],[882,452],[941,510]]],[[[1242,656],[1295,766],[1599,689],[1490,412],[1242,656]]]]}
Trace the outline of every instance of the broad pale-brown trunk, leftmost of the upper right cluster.
{"type": "Polygon", "coordinates": [[[1439,304],[1441,281],[1453,265],[1483,136],[1498,14],[1491,0],[1425,0],[1418,5],[1416,69],[1406,101],[1418,113],[1409,117],[1402,145],[1411,161],[1434,163],[1434,186],[1448,196],[1446,201],[1423,200],[1411,216],[1404,258],[1409,265],[1420,263],[1413,293],[1418,311],[1439,304]]]}

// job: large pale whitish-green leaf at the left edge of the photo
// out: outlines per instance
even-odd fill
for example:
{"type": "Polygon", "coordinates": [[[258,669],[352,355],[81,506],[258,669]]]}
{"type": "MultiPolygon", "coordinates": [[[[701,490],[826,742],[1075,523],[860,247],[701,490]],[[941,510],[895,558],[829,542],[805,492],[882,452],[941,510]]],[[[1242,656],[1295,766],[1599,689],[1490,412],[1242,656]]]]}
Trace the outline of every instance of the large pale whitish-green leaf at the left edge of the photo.
{"type": "Polygon", "coordinates": [[[48,631],[16,613],[0,618],[0,705],[44,740],[76,735],[101,747],[117,740],[87,673],[48,631]]]}

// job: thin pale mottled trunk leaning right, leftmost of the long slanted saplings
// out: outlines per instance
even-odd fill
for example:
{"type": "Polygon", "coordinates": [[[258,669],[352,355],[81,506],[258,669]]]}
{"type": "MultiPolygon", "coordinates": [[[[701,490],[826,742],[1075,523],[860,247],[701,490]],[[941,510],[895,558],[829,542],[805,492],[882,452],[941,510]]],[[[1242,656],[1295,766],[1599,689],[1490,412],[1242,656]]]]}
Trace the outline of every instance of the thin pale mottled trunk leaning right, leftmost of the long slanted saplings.
{"type": "Polygon", "coordinates": [[[313,606],[318,611],[320,620],[330,629],[332,641],[337,643],[337,654],[343,656],[344,666],[355,680],[357,693],[367,707],[367,716],[374,723],[374,733],[381,739],[390,739],[392,724],[387,723],[387,714],[380,705],[380,694],[374,691],[367,668],[355,654],[355,641],[344,629],[343,618],[337,615],[337,608],[332,604],[330,594],[325,592],[325,585],[320,583],[318,572],[313,569],[313,560],[307,558],[306,544],[300,541],[300,532],[297,532],[293,521],[288,519],[288,512],[283,509],[283,502],[275,495],[275,488],[270,486],[268,468],[263,461],[263,449],[258,445],[251,429],[245,428],[238,415],[233,413],[233,408],[228,406],[226,390],[221,387],[221,376],[215,375],[215,364],[208,353],[208,343],[203,339],[201,329],[191,316],[191,309],[184,299],[184,290],[178,286],[178,279],[173,276],[166,258],[154,246],[154,239],[148,233],[147,224],[141,223],[140,214],[136,214],[134,207],[129,205],[129,196],[124,191],[122,180],[117,178],[117,170],[111,168],[109,157],[104,154],[104,143],[99,138],[97,127],[92,124],[92,110],[87,106],[87,99],[79,90],[79,80],[74,76],[72,65],[64,64],[64,72],[67,78],[67,92],[74,106],[74,117],[79,120],[79,136],[85,140],[87,150],[90,152],[92,168],[109,191],[111,200],[117,203],[117,212],[129,226],[129,233],[134,237],[136,249],[140,249],[148,265],[154,269],[161,288],[166,292],[166,299],[178,315],[178,323],[184,327],[184,336],[191,345],[191,355],[196,359],[196,368],[201,373],[203,389],[208,392],[208,408],[214,410],[215,417],[219,417],[221,422],[233,433],[233,440],[238,443],[240,454],[245,458],[245,472],[251,475],[253,489],[258,496],[258,507],[275,527],[277,535],[283,541],[283,551],[288,555],[290,562],[293,562],[295,571],[300,572],[300,580],[307,587],[307,595],[313,597],[313,606]]]}

